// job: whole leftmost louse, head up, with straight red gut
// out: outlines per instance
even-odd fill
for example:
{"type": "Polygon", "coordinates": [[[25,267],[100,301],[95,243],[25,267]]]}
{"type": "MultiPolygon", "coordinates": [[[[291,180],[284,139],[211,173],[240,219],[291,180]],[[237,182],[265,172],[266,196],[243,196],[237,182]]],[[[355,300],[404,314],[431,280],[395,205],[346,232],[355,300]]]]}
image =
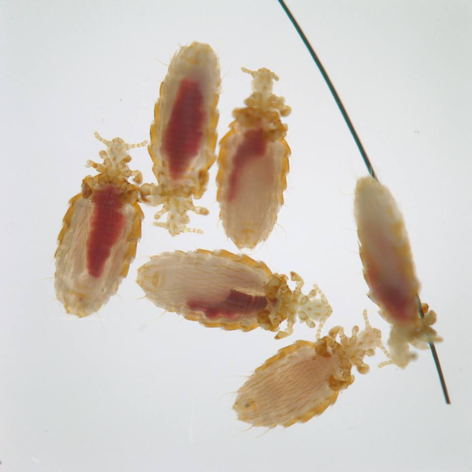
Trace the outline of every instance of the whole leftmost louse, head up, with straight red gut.
{"type": "Polygon", "coordinates": [[[107,146],[98,153],[103,163],[87,162],[99,174],[85,177],[82,192],[70,200],[55,254],[57,297],[67,313],[79,317],[96,312],[116,294],[136,255],[144,218],[139,186],[128,182],[134,177],[139,184],[142,175],[129,169],[128,150],[148,143],[95,137],[107,146]]]}

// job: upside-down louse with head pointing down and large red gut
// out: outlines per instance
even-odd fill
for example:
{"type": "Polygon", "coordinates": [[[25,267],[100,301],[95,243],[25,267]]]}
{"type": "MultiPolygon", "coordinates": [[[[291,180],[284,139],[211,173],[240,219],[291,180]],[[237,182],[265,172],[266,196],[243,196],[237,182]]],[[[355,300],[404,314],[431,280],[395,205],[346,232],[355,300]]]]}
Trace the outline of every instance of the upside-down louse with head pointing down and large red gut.
{"type": "Polygon", "coordinates": [[[216,125],[221,78],[218,57],[207,44],[193,42],[174,55],[154,107],[148,146],[157,185],[141,188],[143,200],[162,205],[156,222],[173,236],[190,230],[187,212],[208,214],[193,205],[207,189],[208,170],[216,155],[216,125]]]}

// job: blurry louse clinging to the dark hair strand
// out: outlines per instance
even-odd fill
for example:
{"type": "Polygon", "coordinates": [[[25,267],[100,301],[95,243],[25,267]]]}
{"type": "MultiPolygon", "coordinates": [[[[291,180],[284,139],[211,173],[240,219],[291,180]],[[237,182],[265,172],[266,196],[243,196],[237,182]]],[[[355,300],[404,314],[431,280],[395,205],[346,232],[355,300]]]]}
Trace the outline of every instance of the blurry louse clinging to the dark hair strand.
{"type": "Polygon", "coordinates": [[[372,177],[357,180],[354,215],[360,257],[369,297],[392,329],[388,345],[391,361],[406,367],[415,354],[409,344],[426,349],[441,341],[431,327],[436,313],[419,306],[419,282],[403,215],[390,191],[372,177]],[[419,316],[420,310],[424,317],[419,316]]]}

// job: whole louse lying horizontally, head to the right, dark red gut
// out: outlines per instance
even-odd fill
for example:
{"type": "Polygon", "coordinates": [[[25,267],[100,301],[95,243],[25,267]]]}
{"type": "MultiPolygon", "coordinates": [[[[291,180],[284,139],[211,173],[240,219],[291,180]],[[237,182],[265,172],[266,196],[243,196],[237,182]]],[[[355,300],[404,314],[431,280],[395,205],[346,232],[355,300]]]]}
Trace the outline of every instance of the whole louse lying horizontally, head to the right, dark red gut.
{"type": "Polygon", "coordinates": [[[258,326],[288,336],[298,316],[310,327],[321,326],[331,314],[315,286],[303,295],[303,280],[292,272],[295,290],[285,275],[263,262],[228,251],[176,251],[151,257],[138,269],[137,282],[149,300],[167,311],[208,327],[250,331],[258,326]],[[287,327],[280,324],[287,320],[287,327]]]}

